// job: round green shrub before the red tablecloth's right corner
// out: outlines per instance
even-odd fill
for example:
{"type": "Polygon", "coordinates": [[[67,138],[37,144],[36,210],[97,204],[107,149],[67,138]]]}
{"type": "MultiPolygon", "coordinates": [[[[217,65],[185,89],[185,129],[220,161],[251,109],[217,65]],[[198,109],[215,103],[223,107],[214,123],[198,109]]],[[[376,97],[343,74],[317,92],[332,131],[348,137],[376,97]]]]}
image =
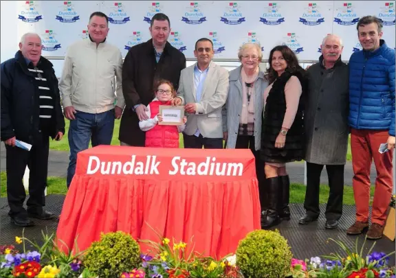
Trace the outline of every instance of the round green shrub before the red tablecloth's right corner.
{"type": "Polygon", "coordinates": [[[284,278],[291,261],[290,246],[277,230],[252,231],[236,249],[236,265],[246,278],[284,278]]]}

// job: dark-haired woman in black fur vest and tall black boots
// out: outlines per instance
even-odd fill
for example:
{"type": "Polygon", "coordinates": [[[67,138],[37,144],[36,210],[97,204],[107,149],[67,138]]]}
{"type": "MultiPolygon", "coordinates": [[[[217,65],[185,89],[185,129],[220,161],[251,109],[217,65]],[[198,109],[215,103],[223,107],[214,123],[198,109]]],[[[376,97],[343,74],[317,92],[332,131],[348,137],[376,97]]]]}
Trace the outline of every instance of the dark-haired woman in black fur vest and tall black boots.
{"type": "Polygon", "coordinates": [[[286,45],[270,52],[270,68],[265,78],[270,83],[264,92],[261,129],[261,158],[265,161],[267,209],[261,227],[270,228],[290,219],[289,176],[285,163],[301,161],[304,156],[303,97],[307,90],[305,70],[286,45]]]}

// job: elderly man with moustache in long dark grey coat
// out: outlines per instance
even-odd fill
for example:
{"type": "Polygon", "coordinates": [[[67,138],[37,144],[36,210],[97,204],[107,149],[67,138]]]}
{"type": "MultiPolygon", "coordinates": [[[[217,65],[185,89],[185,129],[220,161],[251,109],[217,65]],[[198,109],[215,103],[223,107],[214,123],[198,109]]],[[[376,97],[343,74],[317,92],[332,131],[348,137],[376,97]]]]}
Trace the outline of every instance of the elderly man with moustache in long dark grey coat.
{"type": "Polygon", "coordinates": [[[299,224],[318,219],[320,173],[326,165],[330,194],[326,229],[335,229],[342,215],[344,165],[348,148],[349,68],[341,60],[342,40],[330,34],[322,42],[319,62],[307,70],[309,93],[305,107],[307,211],[299,224]]]}

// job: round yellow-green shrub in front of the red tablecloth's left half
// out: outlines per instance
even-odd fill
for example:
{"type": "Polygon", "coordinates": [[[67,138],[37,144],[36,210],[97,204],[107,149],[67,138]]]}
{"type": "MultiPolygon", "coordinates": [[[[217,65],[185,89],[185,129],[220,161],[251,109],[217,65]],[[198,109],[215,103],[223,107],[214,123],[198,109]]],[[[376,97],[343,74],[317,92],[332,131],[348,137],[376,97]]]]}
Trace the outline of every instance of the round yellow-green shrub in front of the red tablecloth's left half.
{"type": "Polygon", "coordinates": [[[84,264],[100,278],[118,278],[140,266],[140,246],[126,233],[102,233],[87,249],[84,264]]]}

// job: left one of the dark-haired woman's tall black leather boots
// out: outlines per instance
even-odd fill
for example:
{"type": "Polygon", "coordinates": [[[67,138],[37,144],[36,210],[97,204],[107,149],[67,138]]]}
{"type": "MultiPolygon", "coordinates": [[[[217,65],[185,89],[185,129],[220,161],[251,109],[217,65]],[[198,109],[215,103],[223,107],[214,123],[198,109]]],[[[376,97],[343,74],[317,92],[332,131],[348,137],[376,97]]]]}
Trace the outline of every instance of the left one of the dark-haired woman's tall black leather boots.
{"type": "Polygon", "coordinates": [[[279,187],[281,179],[276,176],[274,178],[265,179],[265,192],[267,192],[267,209],[261,215],[261,228],[268,229],[279,223],[278,205],[279,205],[279,187]]]}

